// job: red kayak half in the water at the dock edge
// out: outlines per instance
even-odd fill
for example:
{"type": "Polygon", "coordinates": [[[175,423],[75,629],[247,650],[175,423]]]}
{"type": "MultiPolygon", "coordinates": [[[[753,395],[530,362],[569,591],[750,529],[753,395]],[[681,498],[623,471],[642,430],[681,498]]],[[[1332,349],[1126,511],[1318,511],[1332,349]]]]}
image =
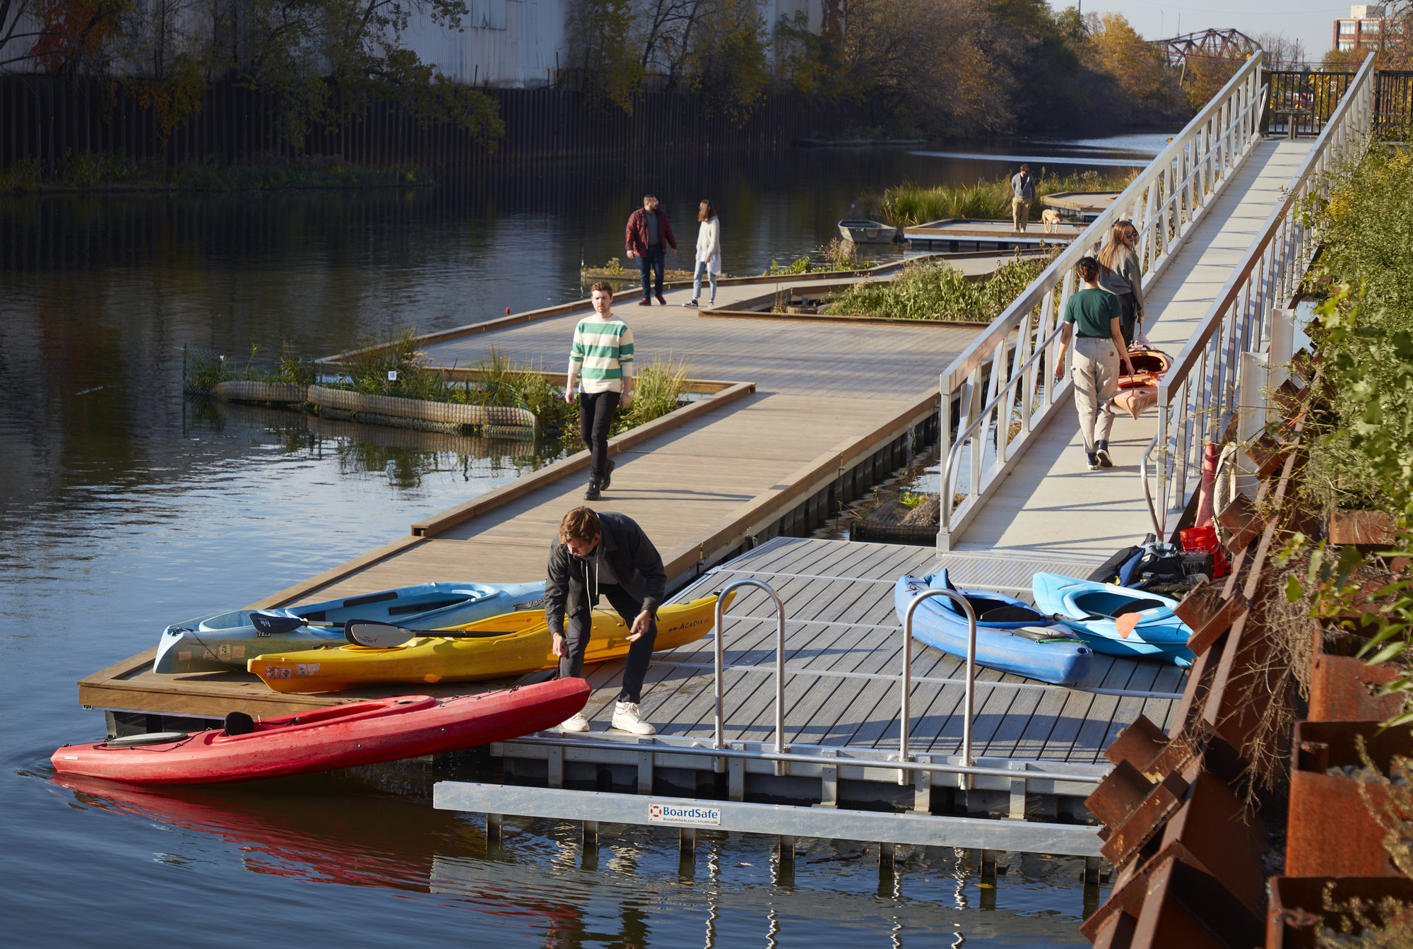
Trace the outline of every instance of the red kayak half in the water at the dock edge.
{"type": "Polygon", "coordinates": [[[264,720],[232,713],[225,729],[66,744],[49,761],[59,774],[110,781],[253,781],[503,741],[558,724],[588,699],[586,681],[555,679],[452,699],[403,695],[349,702],[264,720]]]}

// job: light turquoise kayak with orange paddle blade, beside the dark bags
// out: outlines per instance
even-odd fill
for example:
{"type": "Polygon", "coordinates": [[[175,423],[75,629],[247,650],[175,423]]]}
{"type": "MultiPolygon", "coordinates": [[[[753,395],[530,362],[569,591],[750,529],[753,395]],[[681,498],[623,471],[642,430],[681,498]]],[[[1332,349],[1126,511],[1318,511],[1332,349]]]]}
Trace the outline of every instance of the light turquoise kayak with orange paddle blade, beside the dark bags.
{"type": "Polygon", "coordinates": [[[1173,614],[1177,600],[1171,597],[1058,573],[1036,573],[1030,586],[1036,609],[1054,613],[1096,652],[1193,664],[1187,650],[1193,630],[1173,614]],[[1115,620],[1126,613],[1137,613],[1139,620],[1122,635],[1115,620]]]}

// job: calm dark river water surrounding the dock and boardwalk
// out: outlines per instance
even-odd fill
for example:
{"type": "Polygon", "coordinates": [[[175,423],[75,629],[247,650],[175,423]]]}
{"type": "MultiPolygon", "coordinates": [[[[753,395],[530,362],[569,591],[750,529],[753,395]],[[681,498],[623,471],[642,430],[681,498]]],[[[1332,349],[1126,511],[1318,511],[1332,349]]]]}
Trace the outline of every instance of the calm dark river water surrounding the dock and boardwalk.
{"type": "MultiPolygon", "coordinates": [[[[1109,171],[1161,141],[981,150],[1109,171]]],[[[194,405],[178,347],[326,354],[575,298],[581,260],[622,256],[644,191],[687,247],[712,198],[726,270],[759,273],[829,240],[865,188],[1017,164],[955,157],[976,150],[544,167],[418,191],[0,198],[7,942],[1082,943],[1068,859],[1015,856],[992,890],[951,852],[914,853],[880,887],[872,854],[821,842],[781,880],[767,840],[733,835],[699,844],[682,876],[671,835],[615,830],[585,863],[568,825],[514,820],[487,859],[479,818],[434,811],[438,775],[418,763],[175,791],[65,787],[48,764],[103,732],[75,679],[540,462],[534,446],[194,405]]]]}

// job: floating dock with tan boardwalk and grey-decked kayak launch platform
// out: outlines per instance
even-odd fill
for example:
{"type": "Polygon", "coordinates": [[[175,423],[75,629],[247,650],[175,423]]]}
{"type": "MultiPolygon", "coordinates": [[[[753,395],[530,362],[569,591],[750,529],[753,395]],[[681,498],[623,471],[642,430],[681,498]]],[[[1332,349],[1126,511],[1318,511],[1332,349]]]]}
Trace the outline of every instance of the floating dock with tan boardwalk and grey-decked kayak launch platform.
{"type": "MultiPolygon", "coordinates": [[[[762,284],[794,292],[817,282],[735,282],[721,287],[718,306],[759,295],[762,284]]],[[[585,832],[596,835],[598,820],[627,820],[646,796],[670,812],[719,804],[715,826],[781,839],[862,835],[886,844],[885,866],[893,844],[950,842],[979,847],[992,863],[1006,849],[1085,856],[1096,880],[1099,837],[1082,799],[1111,770],[1101,750],[1140,713],[1167,722],[1183,688],[1178,671],[1099,657],[1091,681],[1077,689],[982,671],[971,719],[974,761],[966,764],[961,664],[914,647],[909,760],[899,761],[903,638],[892,604],[903,572],[945,565],[958,582],[1023,593],[1036,569],[1082,576],[1096,561],[1041,562],[983,551],[938,559],[926,548],[808,539],[842,503],[937,439],[938,367],[981,325],[708,318],[681,306],[687,291],[670,294],[670,306],[617,302],[640,359],[670,356],[688,363],[692,377],[739,381],[704,386],[690,407],[612,439],[617,469],[599,507],[644,525],[677,599],[742,578],[779,592],[786,611],[781,727],[774,729],[771,698],[776,619],[764,609],[764,593],[747,589],[723,624],[725,747],[714,747],[716,644],[705,638],[654,659],[643,712],[658,734],[606,729],[622,664],[603,664],[589,671],[589,734],[500,743],[492,753],[506,784],[448,787],[438,792],[439,806],[558,815],[593,825],[585,832]],[[527,787],[537,789],[531,795],[527,787]],[[613,798],[625,794],[643,796],[632,804],[613,798]],[[595,806],[601,818],[582,816],[595,806]],[[899,813],[907,820],[899,823],[899,813]]],[[[437,333],[422,345],[434,363],[448,366],[475,366],[496,347],[526,364],[557,367],[584,314],[582,304],[557,306],[437,333]]],[[[253,606],[422,580],[543,576],[560,518],[582,504],[586,466],[582,452],[561,459],[253,606]]],[[[103,709],[113,733],[191,730],[232,710],[277,715],[377,695],[441,696],[507,685],[280,695],[243,672],[158,676],[151,657],[130,657],[79,684],[79,700],[103,709]]],[[[687,846],[692,828],[680,830],[687,846]]]]}

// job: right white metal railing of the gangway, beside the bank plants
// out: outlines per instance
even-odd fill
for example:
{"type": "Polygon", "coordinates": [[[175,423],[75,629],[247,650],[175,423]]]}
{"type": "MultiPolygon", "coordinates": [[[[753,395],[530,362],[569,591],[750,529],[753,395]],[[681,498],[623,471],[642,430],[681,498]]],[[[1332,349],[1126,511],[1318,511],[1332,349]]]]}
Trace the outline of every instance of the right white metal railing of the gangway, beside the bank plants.
{"type": "Polygon", "coordinates": [[[1373,79],[1371,52],[1300,169],[1286,185],[1284,199],[1270,212],[1266,226],[1232,270],[1201,325],[1159,381],[1157,435],[1143,452],[1139,477],[1153,530],[1160,538],[1167,535],[1169,513],[1187,506],[1188,486],[1201,472],[1204,442],[1221,441],[1239,410],[1262,408],[1241,405],[1246,401],[1243,390],[1255,402],[1263,401],[1259,388],[1266,388],[1265,378],[1246,380],[1246,373],[1260,369],[1280,371],[1290,359],[1290,353],[1266,354],[1275,336],[1284,329],[1275,321],[1289,319],[1287,314],[1273,311],[1280,311],[1294,295],[1314,258],[1318,236],[1303,219],[1308,199],[1328,193],[1331,172],[1369,141],[1376,119],[1373,79]],[[1266,366],[1262,366],[1263,362],[1266,366]],[[1154,452],[1157,459],[1153,459],[1154,452]],[[1157,472],[1156,494],[1149,482],[1150,460],[1157,472]]]}

